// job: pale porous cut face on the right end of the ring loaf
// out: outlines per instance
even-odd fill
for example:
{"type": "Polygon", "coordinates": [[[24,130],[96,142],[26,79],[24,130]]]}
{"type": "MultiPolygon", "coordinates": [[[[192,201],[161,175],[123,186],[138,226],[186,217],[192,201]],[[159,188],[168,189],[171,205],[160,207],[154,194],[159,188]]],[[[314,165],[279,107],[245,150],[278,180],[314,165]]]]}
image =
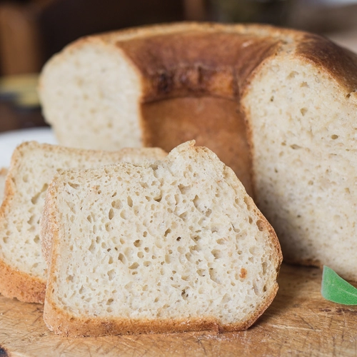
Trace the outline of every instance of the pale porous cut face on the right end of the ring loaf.
{"type": "Polygon", "coordinates": [[[291,53],[261,69],[243,104],[256,203],[284,259],[357,281],[356,93],[291,53]]]}

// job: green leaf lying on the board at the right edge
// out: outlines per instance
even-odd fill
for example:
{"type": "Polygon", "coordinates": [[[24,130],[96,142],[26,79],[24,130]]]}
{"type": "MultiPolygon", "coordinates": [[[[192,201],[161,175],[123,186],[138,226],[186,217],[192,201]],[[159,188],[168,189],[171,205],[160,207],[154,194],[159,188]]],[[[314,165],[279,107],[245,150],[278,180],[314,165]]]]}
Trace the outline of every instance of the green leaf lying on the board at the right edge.
{"type": "Polygon", "coordinates": [[[326,300],[343,305],[357,305],[357,288],[328,266],[323,266],[321,294],[326,300]]]}

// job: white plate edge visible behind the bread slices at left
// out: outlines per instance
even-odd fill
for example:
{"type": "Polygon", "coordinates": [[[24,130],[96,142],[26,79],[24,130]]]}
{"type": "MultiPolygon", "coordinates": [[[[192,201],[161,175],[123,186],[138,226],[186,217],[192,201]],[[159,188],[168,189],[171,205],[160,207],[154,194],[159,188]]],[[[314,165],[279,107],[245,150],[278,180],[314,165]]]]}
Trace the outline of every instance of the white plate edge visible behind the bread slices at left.
{"type": "Polygon", "coordinates": [[[11,155],[16,146],[24,141],[38,141],[39,143],[57,144],[51,128],[31,128],[6,131],[0,134],[0,169],[9,167],[11,155]]]}

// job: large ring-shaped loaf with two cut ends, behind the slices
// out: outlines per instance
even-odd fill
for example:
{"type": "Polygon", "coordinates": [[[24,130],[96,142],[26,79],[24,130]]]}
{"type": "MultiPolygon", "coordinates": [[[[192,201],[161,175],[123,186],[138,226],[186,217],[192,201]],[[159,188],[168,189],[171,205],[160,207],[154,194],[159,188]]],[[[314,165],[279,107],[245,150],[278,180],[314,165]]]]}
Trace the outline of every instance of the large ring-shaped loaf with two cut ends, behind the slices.
{"type": "Polygon", "coordinates": [[[356,89],[356,54],[321,36],[183,23],[76,41],[40,94],[67,145],[208,146],[253,185],[287,261],[357,280],[356,89]]]}

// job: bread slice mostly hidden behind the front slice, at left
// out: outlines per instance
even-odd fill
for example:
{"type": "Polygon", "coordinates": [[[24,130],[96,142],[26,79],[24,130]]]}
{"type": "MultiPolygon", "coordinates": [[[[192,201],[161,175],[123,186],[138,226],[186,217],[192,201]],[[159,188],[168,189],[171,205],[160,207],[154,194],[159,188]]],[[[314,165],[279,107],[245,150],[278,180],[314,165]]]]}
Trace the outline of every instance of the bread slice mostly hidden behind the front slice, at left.
{"type": "Polygon", "coordinates": [[[11,159],[6,196],[0,210],[0,293],[26,302],[44,302],[46,263],[41,255],[39,221],[51,178],[70,168],[91,168],[118,161],[138,164],[160,159],[161,149],[118,152],[21,144],[11,159]]]}

